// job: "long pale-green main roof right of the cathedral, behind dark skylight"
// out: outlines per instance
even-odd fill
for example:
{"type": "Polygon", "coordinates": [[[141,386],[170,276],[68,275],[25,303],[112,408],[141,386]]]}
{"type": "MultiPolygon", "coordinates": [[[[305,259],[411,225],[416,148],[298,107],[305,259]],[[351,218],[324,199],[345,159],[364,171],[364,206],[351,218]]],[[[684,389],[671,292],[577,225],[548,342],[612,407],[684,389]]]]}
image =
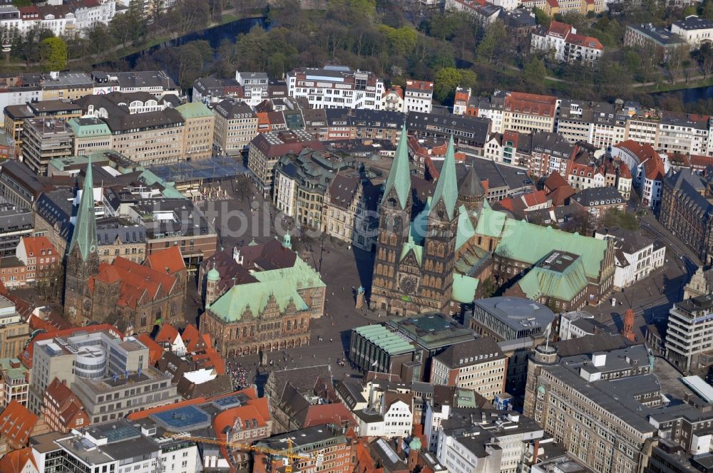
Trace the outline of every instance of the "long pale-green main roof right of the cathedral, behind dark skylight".
{"type": "Polygon", "coordinates": [[[586,275],[596,279],[607,251],[607,241],[507,219],[503,239],[495,253],[515,261],[536,264],[553,249],[582,256],[586,275]]]}

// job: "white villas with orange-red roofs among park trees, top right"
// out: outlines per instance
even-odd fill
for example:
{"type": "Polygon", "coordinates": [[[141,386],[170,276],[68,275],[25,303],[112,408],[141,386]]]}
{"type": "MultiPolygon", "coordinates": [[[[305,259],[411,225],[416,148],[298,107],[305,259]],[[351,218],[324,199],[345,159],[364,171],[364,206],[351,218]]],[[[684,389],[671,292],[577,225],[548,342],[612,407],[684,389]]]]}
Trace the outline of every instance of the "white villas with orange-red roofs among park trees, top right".
{"type": "Polygon", "coordinates": [[[549,28],[539,28],[532,35],[532,51],[554,53],[554,58],[563,63],[580,62],[593,65],[602,56],[604,46],[597,38],[577,34],[577,29],[559,21],[552,21],[549,28]]]}

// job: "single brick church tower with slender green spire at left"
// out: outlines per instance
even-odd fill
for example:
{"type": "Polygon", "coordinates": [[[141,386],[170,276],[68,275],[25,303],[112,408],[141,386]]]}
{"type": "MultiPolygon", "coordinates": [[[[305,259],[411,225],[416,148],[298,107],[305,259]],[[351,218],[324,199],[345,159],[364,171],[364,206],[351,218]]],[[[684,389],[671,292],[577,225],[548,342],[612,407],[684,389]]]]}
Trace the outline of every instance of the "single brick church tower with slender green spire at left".
{"type": "Polygon", "coordinates": [[[91,319],[92,294],[89,281],[99,272],[93,188],[90,159],[68,246],[64,277],[64,311],[73,321],[91,319]]]}

